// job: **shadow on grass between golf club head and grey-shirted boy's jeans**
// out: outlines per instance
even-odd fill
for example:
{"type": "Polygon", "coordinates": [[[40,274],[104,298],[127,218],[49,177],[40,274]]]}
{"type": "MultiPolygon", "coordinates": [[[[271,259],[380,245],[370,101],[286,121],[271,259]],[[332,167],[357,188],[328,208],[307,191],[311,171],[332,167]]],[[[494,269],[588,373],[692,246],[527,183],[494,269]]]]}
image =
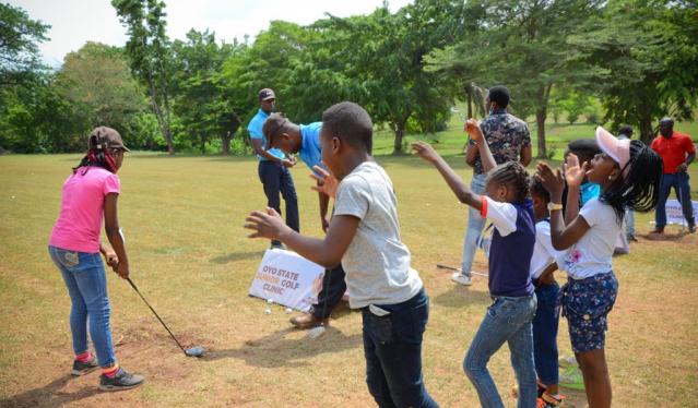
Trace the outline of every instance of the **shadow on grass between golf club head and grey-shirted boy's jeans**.
{"type": "Polygon", "coordinates": [[[339,329],[328,326],[324,334],[316,339],[303,336],[297,339],[286,335],[297,332],[296,328],[283,328],[255,340],[247,340],[239,348],[227,350],[210,350],[202,360],[221,359],[245,360],[248,365],[259,368],[304,368],[310,365],[306,360],[310,357],[334,353],[363,345],[362,334],[344,335],[339,329]]]}

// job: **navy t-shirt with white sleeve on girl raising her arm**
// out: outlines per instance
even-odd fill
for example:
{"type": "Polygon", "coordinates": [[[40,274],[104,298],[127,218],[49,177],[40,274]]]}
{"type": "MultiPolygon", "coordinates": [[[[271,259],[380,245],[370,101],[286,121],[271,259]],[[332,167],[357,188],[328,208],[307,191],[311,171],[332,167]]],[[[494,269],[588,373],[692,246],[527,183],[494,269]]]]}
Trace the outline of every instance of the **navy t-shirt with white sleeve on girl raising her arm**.
{"type": "Polygon", "coordinates": [[[500,203],[483,195],[482,216],[495,226],[489,244],[489,293],[530,296],[534,291],[530,274],[535,247],[533,201],[500,203]]]}

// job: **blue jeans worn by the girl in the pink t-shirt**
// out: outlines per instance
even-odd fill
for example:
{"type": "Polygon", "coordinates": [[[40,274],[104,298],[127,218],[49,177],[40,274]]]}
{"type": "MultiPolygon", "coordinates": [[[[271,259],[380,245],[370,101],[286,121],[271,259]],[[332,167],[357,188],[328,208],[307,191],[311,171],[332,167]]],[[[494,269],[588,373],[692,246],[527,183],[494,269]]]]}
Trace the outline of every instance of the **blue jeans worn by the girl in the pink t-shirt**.
{"type": "Polygon", "coordinates": [[[99,253],[67,251],[48,247],[51,260],[60,271],[68,287],[72,307],[70,309],[70,331],[73,335],[75,355],[87,351],[87,319],[90,337],[103,368],[116,362],[111,329],[109,327],[109,298],[107,277],[99,253]]]}

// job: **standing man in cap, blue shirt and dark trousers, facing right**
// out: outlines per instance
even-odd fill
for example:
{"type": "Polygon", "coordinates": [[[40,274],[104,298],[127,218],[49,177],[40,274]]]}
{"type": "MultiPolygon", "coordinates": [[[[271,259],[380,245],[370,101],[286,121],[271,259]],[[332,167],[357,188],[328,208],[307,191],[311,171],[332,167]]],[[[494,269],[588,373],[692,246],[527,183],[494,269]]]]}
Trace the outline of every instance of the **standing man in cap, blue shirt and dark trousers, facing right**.
{"type": "MultiPolygon", "coordinates": [[[[264,121],[274,109],[275,101],[276,96],[272,89],[263,88],[259,92],[260,108],[247,125],[247,131],[250,133],[252,148],[259,159],[257,169],[259,180],[262,182],[264,194],[267,195],[267,206],[276,209],[281,214],[281,200],[279,199],[279,193],[281,192],[286,202],[286,225],[295,231],[299,231],[298,196],[296,195],[291,171],[288,171],[288,168],[293,167],[296,161],[293,158],[287,158],[277,148],[268,149],[267,140],[262,132],[264,121]]],[[[272,241],[272,248],[281,247],[281,242],[272,241]]]]}

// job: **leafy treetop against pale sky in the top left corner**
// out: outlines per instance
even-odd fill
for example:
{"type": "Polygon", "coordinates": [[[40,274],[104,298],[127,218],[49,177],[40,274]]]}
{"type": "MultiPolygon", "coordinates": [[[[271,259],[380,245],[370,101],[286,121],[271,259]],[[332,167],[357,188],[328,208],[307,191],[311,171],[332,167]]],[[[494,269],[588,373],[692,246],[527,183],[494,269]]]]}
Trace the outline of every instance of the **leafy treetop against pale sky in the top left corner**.
{"type": "Polygon", "coordinates": [[[37,45],[48,39],[48,28],[21,8],[0,3],[0,87],[28,81],[43,70],[37,45]]]}

